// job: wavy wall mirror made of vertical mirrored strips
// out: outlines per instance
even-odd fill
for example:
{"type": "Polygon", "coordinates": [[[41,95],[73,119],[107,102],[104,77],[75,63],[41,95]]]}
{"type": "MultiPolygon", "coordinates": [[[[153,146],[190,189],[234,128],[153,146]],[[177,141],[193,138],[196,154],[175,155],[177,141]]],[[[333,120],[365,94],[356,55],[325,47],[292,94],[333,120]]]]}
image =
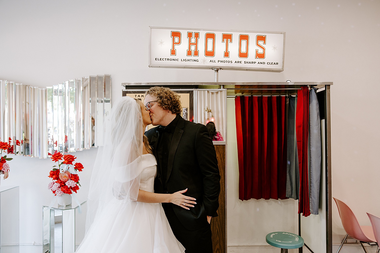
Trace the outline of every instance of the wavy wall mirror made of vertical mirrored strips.
{"type": "Polygon", "coordinates": [[[0,80],[0,140],[9,154],[40,158],[101,146],[111,86],[111,75],[46,88],[0,80]]]}

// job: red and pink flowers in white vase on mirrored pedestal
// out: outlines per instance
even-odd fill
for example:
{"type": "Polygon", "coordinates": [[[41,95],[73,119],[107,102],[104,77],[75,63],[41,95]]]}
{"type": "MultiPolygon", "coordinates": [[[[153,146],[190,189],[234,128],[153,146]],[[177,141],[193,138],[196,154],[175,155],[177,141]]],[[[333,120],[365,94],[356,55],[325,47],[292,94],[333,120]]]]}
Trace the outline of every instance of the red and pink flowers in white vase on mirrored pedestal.
{"type": "Polygon", "coordinates": [[[71,194],[79,190],[79,176],[77,171],[82,171],[83,165],[81,163],[75,163],[76,159],[73,155],[63,155],[60,152],[51,156],[54,162],[58,162],[58,166],[54,165],[53,169],[49,173],[49,178],[53,179],[47,186],[54,195],[61,196],[63,193],[71,194]],[[63,160],[60,162],[60,160],[63,160]],[[80,165],[80,166],[77,166],[80,165]]]}

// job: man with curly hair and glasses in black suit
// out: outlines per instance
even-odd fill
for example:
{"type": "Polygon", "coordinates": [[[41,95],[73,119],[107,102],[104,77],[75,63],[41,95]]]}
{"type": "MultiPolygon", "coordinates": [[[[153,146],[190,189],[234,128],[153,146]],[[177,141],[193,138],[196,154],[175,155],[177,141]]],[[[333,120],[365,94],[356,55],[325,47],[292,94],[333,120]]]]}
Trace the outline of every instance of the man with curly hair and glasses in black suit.
{"type": "Polygon", "coordinates": [[[171,229],[186,253],[212,253],[211,217],[218,216],[220,175],[215,148],[206,126],[184,120],[179,95],[169,88],[152,87],[145,93],[152,125],[145,135],[157,159],[156,193],[174,193],[195,198],[184,209],[162,203],[171,229]]]}

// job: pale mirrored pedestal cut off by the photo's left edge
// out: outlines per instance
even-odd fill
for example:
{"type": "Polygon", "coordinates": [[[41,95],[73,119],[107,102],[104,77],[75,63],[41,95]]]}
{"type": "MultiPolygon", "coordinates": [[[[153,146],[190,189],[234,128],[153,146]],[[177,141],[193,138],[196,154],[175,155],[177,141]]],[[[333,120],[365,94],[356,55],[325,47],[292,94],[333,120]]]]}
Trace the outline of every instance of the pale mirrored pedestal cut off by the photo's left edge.
{"type": "Polygon", "coordinates": [[[19,253],[20,199],[18,186],[0,187],[0,253],[19,253]]]}

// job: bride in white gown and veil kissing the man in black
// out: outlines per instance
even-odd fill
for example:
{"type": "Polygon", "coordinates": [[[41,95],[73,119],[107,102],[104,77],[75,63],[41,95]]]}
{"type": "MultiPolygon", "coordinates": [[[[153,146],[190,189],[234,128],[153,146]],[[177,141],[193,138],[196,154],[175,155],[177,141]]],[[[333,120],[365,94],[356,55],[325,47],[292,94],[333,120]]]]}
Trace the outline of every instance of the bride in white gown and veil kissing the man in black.
{"type": "Polygon", "coordinates": [[[151,124],[141,101],[123,97],[105,123],[88,197],[86,236],[77,253],[183,253],[161,204],[190,209],[195,199],[154,193],[157,163],[144,136],[151,124]],[[110,119],[109,119],[110,118],[110,119]]]}

